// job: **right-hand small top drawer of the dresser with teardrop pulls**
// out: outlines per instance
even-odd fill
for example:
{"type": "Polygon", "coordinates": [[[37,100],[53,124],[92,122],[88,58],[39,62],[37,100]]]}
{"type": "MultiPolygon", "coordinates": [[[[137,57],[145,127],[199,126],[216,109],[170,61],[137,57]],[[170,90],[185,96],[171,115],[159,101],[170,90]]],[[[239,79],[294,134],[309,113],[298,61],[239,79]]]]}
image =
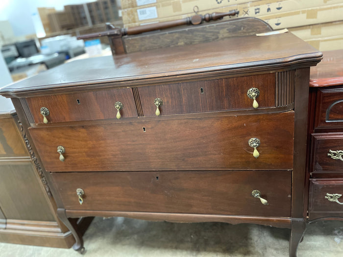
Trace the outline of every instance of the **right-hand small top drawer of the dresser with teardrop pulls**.
{"type": "Polygon", "coordinates": [[[259,108],[275,106],[275,74],[200,80],[138,88],[144,116],[154,116],[155,98],[162,100],[161,115],[254,109],[247,96],[257,88],[259,108]]]}

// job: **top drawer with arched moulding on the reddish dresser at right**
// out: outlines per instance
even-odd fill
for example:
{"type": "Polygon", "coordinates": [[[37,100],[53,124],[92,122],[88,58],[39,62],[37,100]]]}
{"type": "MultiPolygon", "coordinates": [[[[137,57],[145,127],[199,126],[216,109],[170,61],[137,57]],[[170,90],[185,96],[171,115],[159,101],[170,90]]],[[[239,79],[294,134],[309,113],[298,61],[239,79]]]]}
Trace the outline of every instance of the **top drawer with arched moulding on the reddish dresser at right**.
{"type": "Polygon", "coordinates": [[[316,100],[316,128],[343,128],[343,88],[320,89],[316,100]]]}

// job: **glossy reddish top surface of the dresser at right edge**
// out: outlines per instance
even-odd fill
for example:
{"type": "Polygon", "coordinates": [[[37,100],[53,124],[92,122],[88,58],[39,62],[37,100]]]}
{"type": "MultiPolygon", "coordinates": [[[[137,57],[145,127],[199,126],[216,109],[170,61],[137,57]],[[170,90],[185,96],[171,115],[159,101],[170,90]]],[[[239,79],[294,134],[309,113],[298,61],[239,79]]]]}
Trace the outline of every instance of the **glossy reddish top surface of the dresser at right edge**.
{"type": "Polygon", "coordinates": [[[323,52],[323,60],[310,74],[310,87],[343,85],[343,49],[323,52]]]}

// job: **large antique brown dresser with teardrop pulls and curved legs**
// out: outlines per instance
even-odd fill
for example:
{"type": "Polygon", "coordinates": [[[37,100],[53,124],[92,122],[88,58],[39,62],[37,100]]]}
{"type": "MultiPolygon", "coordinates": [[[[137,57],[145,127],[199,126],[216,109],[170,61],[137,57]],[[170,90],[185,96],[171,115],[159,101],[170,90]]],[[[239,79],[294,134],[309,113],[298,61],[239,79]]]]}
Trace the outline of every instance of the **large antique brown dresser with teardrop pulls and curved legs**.
{"type": "Polygon", "coordinates": [[[291,33],[67,63],[11,97],[58,215],[305,229],[310,66],[291,33]]]}

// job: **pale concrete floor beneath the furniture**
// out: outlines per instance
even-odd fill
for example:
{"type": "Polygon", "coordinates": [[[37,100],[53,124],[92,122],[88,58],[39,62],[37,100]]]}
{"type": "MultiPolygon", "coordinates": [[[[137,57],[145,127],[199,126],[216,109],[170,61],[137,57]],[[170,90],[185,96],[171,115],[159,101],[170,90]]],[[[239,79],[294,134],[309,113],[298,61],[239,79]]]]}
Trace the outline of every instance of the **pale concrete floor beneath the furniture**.
{"type": "MultiPolygon", "coordinates": [[[[85,257],[288,257],[289,230],[227,223],[95,218],[85,257]]],[[[0,243],[1,257],[81,257],[72,249],[0,243]]],[[[298,257],[343,257],[343,222],[310,224],[298,257]]]]}

